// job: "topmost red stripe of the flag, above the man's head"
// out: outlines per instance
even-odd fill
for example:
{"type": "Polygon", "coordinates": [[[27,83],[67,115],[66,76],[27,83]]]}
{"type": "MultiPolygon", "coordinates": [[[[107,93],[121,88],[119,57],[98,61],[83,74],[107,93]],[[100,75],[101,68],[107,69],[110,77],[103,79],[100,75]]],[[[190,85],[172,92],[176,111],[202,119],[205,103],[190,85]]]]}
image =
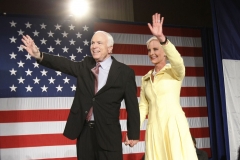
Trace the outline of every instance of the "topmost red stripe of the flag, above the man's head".
{"type": "MultiPolygon", "coordinates": [[[[152,35],[147,24],[134,25],[134,24],[118,24],[118,23],[105,23],[97,22],[94,24],[94,30],[104,30],[110,33],[129,33],[129,34],[148,34],[152,35]]],[[[164,34],[167,36],[180,36],[180,37],[201,37],[199,29],[190,28],[171,28],[163,27],[164,34]]]]}

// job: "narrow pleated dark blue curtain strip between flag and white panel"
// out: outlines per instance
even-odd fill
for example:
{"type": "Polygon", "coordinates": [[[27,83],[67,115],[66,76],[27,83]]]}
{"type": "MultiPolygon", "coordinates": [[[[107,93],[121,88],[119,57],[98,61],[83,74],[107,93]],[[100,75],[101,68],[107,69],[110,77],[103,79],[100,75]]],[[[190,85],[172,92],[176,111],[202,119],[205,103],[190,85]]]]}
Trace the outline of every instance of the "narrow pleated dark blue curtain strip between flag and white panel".
{"type": "MultiPolygon", "coordinates": [[[[214,9],[212,10],[214,13],[214,9]]],[[[213,14],[213,23],[215,16],[213,14]]],[[[212,160],[229,160],[229,141],[223,68],[216,29],[202,29],[203,63],[212,160]]]]}

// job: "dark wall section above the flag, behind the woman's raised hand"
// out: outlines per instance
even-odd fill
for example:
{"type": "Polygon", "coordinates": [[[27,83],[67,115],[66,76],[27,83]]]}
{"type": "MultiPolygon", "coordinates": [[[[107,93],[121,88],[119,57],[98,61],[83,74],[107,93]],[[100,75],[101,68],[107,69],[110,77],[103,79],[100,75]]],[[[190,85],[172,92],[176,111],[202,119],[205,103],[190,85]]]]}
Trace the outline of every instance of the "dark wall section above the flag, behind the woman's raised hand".
{"type": "Polygon", "coordinates": [[[160,12],[165,24],[212,27],[210,0],[133,0],[135,22],[151,22],[160,12]]]}

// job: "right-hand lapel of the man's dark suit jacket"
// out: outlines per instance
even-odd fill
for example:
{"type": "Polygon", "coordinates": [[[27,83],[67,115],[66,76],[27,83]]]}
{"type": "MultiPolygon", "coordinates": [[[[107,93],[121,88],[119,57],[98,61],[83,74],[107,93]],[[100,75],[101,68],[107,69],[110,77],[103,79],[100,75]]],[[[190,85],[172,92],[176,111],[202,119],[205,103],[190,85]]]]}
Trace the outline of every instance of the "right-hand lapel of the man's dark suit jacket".
{"type": "Polygon", "coordinates": [[[118,75],[120,74],[120,63],[114,58],[112,58],[112,65],[110,67],[109,73],[108,73],[108,78],[106,84],[97,92],[96,95],[101,94],[105,90],[107,90],[109,87],[112,86],[112,84],[116,81],[118,75]]]}

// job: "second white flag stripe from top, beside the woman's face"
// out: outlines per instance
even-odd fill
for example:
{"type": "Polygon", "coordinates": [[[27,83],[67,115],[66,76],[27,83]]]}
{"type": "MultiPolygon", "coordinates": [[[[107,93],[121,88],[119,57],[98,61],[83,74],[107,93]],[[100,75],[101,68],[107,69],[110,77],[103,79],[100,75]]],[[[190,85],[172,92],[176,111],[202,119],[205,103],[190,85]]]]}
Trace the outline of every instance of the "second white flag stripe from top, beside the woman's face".
{"type": "MultiPolygon", "coordinates": [[[[126,65],[153,66],[147,55],[112,54],[116,60],[126,65]]],[[[202,57],[182,56],[185,67],[203,67],[202,57]]]]}

